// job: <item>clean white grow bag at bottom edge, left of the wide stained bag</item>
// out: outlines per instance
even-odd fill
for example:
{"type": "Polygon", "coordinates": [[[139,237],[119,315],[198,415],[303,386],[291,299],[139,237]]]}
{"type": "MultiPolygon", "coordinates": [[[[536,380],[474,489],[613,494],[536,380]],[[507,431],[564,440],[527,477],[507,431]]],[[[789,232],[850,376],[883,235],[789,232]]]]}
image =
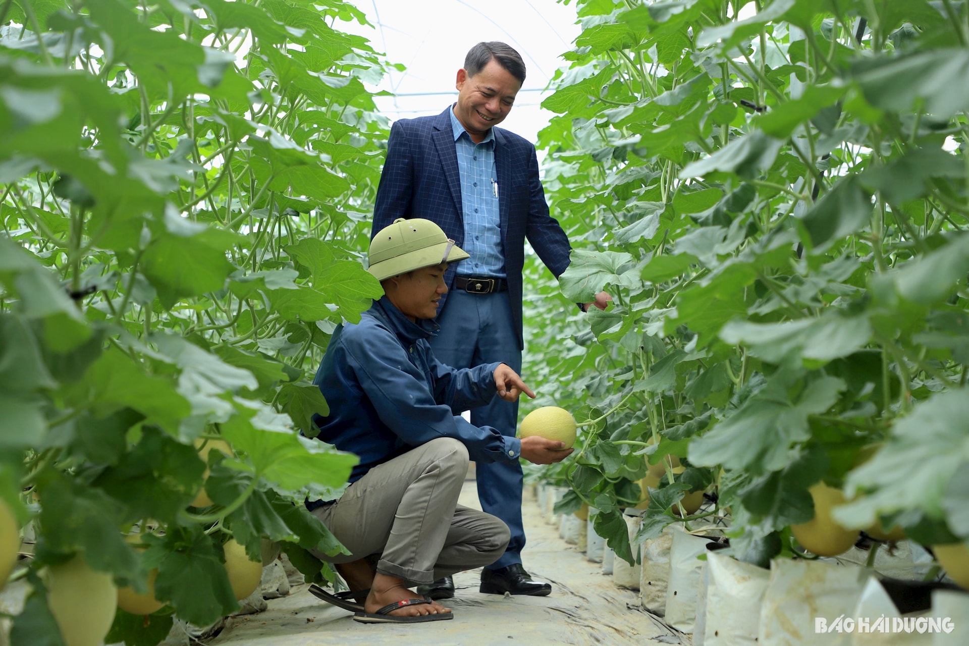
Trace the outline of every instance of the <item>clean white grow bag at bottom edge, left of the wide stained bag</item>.
{"type": "Polygon", "coordinates": [[[694,646],[756,644],[770,570],[707,551],[694,646]],[[703,586],[705,583],[705,586],[703,586]]]}

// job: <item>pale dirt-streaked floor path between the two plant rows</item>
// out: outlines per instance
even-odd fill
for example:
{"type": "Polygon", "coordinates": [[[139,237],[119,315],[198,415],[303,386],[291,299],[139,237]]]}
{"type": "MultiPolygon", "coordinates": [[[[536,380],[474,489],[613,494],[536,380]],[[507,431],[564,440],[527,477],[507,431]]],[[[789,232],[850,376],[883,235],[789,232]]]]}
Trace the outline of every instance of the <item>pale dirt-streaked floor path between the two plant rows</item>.
{"type": "MultiPolygon", "coordinates": [[[[475,482],[461,492],[462,505],[480,508],[475,482]]],[[[546,646],[602,644],[689,644],[640,608],[636,592],[623,590],[586,561],[575,545],[558,536],[542,518],[538,503],[526,496],[523,507],[528,545],[525,567],[552,583],[545,598],[497,597],[478,592],[479,569],[454,577],[457,594],[445,604],[454,619],[410,626],[364,625],[352,615],[317,600],[306,586],[289,597],[268,601],[268,610],[233,617],[210,643],[218,646],[309,646],[316,644],[393,646],[546,646]]]]}

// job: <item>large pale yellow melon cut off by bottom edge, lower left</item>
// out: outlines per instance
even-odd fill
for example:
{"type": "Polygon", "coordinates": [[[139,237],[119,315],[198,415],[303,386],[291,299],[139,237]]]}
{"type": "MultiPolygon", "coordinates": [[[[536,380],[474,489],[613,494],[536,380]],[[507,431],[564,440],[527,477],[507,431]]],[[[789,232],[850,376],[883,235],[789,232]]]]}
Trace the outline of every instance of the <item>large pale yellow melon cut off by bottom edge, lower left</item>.
{"type": "Polygon", "coordinates": [[[47,605],[66,646],[101,646],[117,603],[117,587],[108,572],[91,569],[81,554],[47,568],[47,605]]]}

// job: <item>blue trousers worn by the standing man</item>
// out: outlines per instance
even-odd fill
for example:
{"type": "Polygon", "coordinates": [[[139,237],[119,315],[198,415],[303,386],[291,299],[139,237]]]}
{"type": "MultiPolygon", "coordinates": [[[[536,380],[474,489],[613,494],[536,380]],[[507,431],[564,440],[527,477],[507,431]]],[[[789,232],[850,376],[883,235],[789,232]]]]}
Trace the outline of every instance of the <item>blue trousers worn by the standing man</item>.
{"type": "MultiPolygon", "coordinates": [[[[453,290],[438,316],[441,331],[431,339],[438,361],[453,368],[470,368],[501,361],[521,373],[521,351],[513,328],[508,292],[468,293],[453,290]]],[[[527,382],[526,382],[527,384],[527,382]]],[[[485,407],[471,410],[471,423],[491,426],[502,435],[515,437],[518,403],[495,395],[485,407]]],[[[491,462],[477,464],[478,498],[486,513],[508,525],[512,538],[505,554],[488,569],[521,563],[525,528],[521,522],[521,464],[491,462]]]]}

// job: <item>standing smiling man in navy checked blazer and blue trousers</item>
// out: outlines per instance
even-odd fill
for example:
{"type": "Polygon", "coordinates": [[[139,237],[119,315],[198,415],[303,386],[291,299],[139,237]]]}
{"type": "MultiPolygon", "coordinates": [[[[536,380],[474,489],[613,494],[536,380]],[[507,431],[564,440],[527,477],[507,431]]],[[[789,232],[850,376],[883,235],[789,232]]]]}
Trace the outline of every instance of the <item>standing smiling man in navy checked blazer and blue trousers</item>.
{"type": "MultiPolygon", "coordinates": [[[[387,162],[374,207],[371,237],[397,218],[437,223],[470,259],[451,265],[441,297],[434,354],[455,368],[504,361],[521,371],[521,270],[525,238],[557,278],[569,266],[569,239],[548,215],[535,146],[496,128],[525,79],[518,52],[479,43],[457,71],[457,102],[437,116],[401,119],[391,127],[387,162]]],[[[609,295],[596,296],[605,309],[609,295]]],[[[583,308],[584,309],[584,308],[583,308]]],[[[517,402],[495,399],[471,411],[471,423],[515,436],[517,402]]],[[[521,565],[521,465],[478,463],[482,508],[508,525],[505,554],[482,572],[481,592],[545,596],[521,565]]],[[[454,594],[451,577],[428,588],[434,599],[454,594]]]]}

